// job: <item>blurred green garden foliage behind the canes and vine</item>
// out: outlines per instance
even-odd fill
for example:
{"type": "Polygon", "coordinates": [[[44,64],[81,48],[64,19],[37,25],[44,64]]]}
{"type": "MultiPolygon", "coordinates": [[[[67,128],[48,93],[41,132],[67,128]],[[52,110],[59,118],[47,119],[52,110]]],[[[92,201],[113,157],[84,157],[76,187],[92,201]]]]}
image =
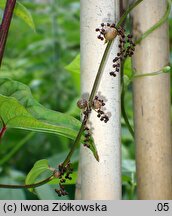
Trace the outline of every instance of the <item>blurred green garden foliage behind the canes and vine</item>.
{"type": "MultiPolygon", "coordinates": [[[[76,108],[80,89],[79,1],[20,0],[20,2],[31,12],[36,32],[14,16],[0,77],[9,77],[27,84],[33,96],[41,104],[79,119],[80,113],[76,108]]],[[[172,27],[172,18],[169,21],[172,27]]],[[[170,28],[170,45],[172,46],[172,28],[170,28]]],[[[131,62],[127,61],[126,73],[130,68],[131,62]]],[[[125,106],[130,123],[133,125],[131,90],[132,87],[129,86],[125,106]]],[[[121,122],[123,199],[136,199],[134,142],[124,120],[121,122]]],[[[63,161],[71,144],[71,140],[61,136],[8,130],[0,145],[0,182],[23,183],[37,160],[45,158],[50,164],[56,165],[63,161]]],[[[72,162],[77,171],[78,151],[74,154],[72,162]]],[[[0,199],[74,199],[74,183],[67,185],[69,196],[62,198],[52,190],[57,186],[44,185],[37,188],[35,193],[24,189],[0,189],[0,199]]]]}

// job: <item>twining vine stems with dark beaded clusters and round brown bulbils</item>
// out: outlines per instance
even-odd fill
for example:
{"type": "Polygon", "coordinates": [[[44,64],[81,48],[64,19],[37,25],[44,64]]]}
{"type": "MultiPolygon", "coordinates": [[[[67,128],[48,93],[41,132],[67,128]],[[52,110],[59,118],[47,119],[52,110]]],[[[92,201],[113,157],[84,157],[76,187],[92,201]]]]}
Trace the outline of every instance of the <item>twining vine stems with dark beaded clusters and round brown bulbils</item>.
{"type": "MultiPolygon", "coordinates": [[[[104,54],[101,59],[101,63],[98,68],[98,72],[89,96],[88,101],[85,99],[80,99],[77,103],[78,107],[82,110],[83,114],[83,120],[81,127],[78,131],[78,134],[74,140],[74,143],[72,145],[72,148],[68,155],[66,156],[65,160],[63,163],[58,165],[58,168],[50,168],[52,171],[52,174],[37,183],[34,184],[25,184],[25,185],[6,185],[6,184],[0,184],[0,188],[11,188],[11,189],[16,189],[16,188],[36,188],[39,187],[45,183],[48,183],[52,181],[54,178],[59,179],[59,189],[55,189],[57,194],[59,196],[62,195],[67,195],[68,193],[65,191],[63,183],[65,183],[66,179],[71,180],[71,174],[73,172],[72,164],[70,163],[70,158],[73,155],[73,152],[75,151],[76,147],[79,145],[81,136],[84,134],[85,140],[83,145],[87,148],[90,148],[90,142],[92,142],[92,137],[91,137],[91,131],[87,126],[87,121],[89,119],[90,113],[93,111],[97,112],[97,117],[101,120],[107,123],[109,121],[108,115],[104,113],[102,110],[102,107],[105,106],[105,103],[102,99],[100,99],[96,95],[96,91],[99,86],[99,82],[101,79],[101,75],[103,72],[103,68],[106,64],[106,60],[108,57],[109,50],[112,46],[112,43],[116,37],[119,37],[119,52],[117,53],[117,56],[113,59],[112,62],[112,71],[109,72],[109,74],[113,77],[116,77],[118,72],[120,71],[121,68],[121,74],[123,75],[123,66],[124,66],[124,61],[127,57],[131,57],[134,54],[135,50],[135,45],[140,43],[142,39],[144,39],[146,36],[148,36],[152,31],[154,31],[156,28],[158,28],[160,25],[162,25],[170,11],[170,3],[168,4],[167,12],[163,16],[163,18],[155,24],[150,30],[145,32],[141,38],[137,39],[135,42],[133,41],[132,35],[131,34],[126,34],[124,28],[122,28],[122,24],[124,20],[126,19],[127,15],[135,8],[139,3],[141,3],[143,0],[137,0],[133,4],[131,4],[128,9],[124,12],[124,14],[121,16],[119,22],[117,24],[115,23],[102,23],[100,25],[100,28],[96,29],[96,32],[99,32],[98,39],[100,40],[105,40],[107,42],[104,54]]],[[[10,22],[11,18],[13,15],[13,10],[16,4],[16,0],[7,0],[6,2],[6,7],[4,10],[4,15],[0,27],[0,64],[3,58],[3,53],[5,49],[5,44],[8,36],[8,30],[10,27],[10,22]]],[[[124,106],[124,96],[125,96],[125,88],[124,88],[124,83],[123,83],[123,76],[122,76],[122,114],[124,117],[124,120],[126,122],[126,125],[128,126],[128,129],[130,130],[131,134],[134,136],[134,131],[132,127],[130,126],[130,123],[127,118],[127,114],[125,112],[125,106],[124,106]]],[[[3,122],[3,121],[2,121],[3,122]]],[[[0,138],[4,134],[6,127],[5,124],[3,125],[3,128],[0,131],[0,138]]],[[[95,155],[97,161],[99,161],[98,155],[95,155]]]]}

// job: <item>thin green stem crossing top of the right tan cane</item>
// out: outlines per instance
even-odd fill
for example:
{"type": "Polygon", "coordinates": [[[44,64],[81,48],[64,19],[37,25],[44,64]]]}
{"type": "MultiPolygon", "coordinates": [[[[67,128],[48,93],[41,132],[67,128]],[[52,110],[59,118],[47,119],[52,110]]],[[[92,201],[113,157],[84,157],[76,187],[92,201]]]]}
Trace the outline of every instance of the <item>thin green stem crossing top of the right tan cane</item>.
{"type": "Polygon", "coordinates": [[[171,11],[171,2],[170,0],[168,1],[167,4],[167,10],[164,14],[164,16],[155,24],[153,25],[151,28],[149,28],[145,33],[143,33],[136,41],[135,44],[139,44],[143,39],[145,39],[150,33],[152,33],[153,31],[155,31],[157,28],[159,28],[164,22],[167,21],[169,14],[171,11]]]}

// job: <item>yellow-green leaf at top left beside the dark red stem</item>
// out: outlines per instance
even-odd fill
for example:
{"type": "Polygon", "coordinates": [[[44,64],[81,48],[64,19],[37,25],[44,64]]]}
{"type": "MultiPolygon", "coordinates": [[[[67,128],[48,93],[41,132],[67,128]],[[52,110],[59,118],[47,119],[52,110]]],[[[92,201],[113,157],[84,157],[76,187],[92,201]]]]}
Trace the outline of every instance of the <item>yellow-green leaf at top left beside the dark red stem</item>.
{"type": "MultiPolygon", "coordinates": [[[[6,0],[0,1],[0,8],[4,9],[6,4],[6,0]]],[[[14,9],[14,14],[18,17],[20,17],[25,23],[27,23],[30,28],[32,28],[35,31],[35,24],[32,19],[32,15],[29,12],[29,10],[22,5],[20,2],[16,2],[16,6],[14,9]]]]}

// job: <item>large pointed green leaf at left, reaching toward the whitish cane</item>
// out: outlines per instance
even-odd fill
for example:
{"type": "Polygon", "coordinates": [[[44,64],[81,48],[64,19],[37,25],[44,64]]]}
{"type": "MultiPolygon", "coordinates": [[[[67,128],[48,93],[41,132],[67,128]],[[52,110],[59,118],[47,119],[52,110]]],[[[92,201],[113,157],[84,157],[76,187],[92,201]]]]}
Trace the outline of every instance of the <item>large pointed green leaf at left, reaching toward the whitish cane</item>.
{"type": "Polygon", "coordinates": [[[55,133],[74,139],[80,121],[43,107],[30,89],[17,81],[0,79],[0,116],[8,128],[55,133]]]}

